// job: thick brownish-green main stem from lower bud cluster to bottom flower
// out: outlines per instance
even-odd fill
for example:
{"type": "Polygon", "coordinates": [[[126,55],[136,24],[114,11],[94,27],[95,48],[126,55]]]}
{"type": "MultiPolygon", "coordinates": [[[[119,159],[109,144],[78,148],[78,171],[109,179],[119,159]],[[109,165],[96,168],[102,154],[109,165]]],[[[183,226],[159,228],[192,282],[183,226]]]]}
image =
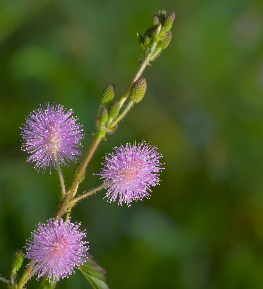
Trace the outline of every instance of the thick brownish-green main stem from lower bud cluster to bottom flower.
{"type": "Polygon", "coordinates": [[[75,189],[79,183],[79,180],[80,180],[84,170],[86,169],[91,157],[93,156],[96,148],[98,147],[99,143],[104,138],[104,136],[105,136],[105,130],[98,131],[96,133],[96,135],[94,136],[93,142],[91,143],[91,146],[89,147],[89,150],[87,151],[86,156],[85,156],[82,164],[80,165],[80,167],[77,171],[77,174],[75,175],[74,179],[72,180],[70,187],[69,187],[69,189],[65,195],[64,200],[62,201],[61,205],[58,208],[58,211],[56,212],[55,218],[56,217],[61,218],[62,215],[66,212],[66,210],[68,208],[69,201],[75,192],[75,189]]]}

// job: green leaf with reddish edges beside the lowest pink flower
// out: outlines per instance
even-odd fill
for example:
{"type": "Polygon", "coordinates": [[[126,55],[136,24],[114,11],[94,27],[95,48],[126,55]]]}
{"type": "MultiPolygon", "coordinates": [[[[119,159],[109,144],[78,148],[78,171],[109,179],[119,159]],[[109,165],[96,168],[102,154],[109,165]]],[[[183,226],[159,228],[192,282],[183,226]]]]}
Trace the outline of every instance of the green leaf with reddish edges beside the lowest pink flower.
{"type": "Polygon", "coordinates": [[[109,289],[108,285],[104,282],[106,280],[104,274],[106,270],[92,259],[93,256],[88,254],[88,258],[83,258],[84,263],[79,266],[79,271],[89,281],[94,289],[109,289]]]}

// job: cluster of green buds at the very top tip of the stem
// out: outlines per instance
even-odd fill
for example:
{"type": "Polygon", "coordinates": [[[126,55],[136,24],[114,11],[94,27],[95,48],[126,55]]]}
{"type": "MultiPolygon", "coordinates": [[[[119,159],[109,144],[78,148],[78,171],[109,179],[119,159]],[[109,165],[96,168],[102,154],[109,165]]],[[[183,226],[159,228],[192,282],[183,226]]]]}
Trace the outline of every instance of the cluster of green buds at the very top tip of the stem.
{"type": "Polygon", "coordinates": [[[174,18],[174,12],[166,15],[165,10],[159,10],[158,13],[154,13],[151,26],[146,29],[144,34],[142,35],[141,32],[137,33],[142,55],[145,55],[147,52],[146,46],[150,46],[153,42],[158,42],[150,61],[155,60],[160,55],[161,51],[169,45],[172,39],[172,32],[170,29],[172,28],[174,18]]]}

